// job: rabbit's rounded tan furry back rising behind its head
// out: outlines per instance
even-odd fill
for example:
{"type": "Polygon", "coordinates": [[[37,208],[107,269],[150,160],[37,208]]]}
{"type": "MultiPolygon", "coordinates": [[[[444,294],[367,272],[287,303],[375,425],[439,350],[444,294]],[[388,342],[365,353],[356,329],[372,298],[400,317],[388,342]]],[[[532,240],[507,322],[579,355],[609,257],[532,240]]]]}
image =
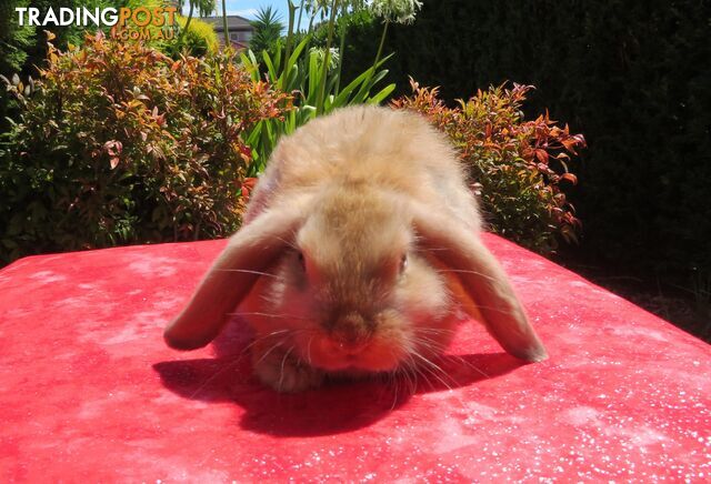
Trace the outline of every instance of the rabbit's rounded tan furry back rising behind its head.
{"type": "Polygon", "coordinates": [[[317,198],[324,188],[368,186],[437,204],[475,231],[479,213],[465,179],[447,138],[422,117],[352,107],[316,119],[280,141],[248,219],[293,204],[304,194],[317,198]]]}

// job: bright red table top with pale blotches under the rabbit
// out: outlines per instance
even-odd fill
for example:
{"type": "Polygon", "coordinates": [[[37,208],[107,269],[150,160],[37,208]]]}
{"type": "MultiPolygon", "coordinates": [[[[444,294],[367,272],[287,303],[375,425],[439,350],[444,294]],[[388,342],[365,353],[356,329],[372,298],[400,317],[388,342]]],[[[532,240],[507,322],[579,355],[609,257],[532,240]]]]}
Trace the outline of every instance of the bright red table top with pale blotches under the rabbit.
{"type": "Polygon", "coordinates": [[[0,481],[709,482],[710,346],[485,242],[550,360],[523,365],[464,324],[449,379],[397,395],[379,382],[264,389],[239,321],[207,349],[166,347],[224,241],[17,261],[0,271],[0,481]]]}

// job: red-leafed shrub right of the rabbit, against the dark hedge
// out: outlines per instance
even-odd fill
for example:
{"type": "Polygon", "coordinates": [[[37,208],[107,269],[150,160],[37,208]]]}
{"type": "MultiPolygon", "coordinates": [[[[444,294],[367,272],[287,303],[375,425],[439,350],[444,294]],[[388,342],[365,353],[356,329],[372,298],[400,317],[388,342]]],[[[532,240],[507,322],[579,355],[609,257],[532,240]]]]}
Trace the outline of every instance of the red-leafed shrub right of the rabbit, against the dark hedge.
{"type": "Polygon", "coordinates": [[[557,248],[557,235],[577,240],[580,221],[560,185],[575,184],[568,161],[585,145],[582,134],[555,125],[548,113],[525,121],[521,103],[532,89],[514,84],[478,91],[457,108],[437,88],[420,88],[392,105],[424,114],[459,149],[490,229],[538,252],[557,248]]]}

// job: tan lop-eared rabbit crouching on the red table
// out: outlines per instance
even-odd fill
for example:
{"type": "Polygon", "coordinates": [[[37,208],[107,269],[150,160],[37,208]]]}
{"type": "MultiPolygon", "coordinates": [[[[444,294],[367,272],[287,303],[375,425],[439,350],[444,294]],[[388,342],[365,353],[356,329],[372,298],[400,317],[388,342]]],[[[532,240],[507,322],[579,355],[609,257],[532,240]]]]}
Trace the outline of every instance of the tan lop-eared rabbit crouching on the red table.
{"type": "Polygon", "coordinates": [[[510,354],[544,360],[481,225],[453,148],[424,118],[337,110],[280,140],[164,339],[204,346],[237,311],[256,333],[254,374],[281,392],[432,364],[462,310],[510,354]]]}

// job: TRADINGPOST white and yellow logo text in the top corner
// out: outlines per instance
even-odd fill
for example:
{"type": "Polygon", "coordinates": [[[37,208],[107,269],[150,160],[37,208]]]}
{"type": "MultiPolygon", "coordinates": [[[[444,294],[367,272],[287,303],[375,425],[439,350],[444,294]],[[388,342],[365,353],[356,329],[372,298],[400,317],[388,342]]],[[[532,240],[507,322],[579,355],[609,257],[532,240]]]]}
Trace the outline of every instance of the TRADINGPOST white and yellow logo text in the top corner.
{"type": "Polygon", "coordinates": [[[111,37],[120,40],[156,40],[176,37],[176,7],[139,7],[136,9],[87,7],[41,10],[37,7],[17,7],[20,26],[97,28],[110,27],[111,37]]]}

